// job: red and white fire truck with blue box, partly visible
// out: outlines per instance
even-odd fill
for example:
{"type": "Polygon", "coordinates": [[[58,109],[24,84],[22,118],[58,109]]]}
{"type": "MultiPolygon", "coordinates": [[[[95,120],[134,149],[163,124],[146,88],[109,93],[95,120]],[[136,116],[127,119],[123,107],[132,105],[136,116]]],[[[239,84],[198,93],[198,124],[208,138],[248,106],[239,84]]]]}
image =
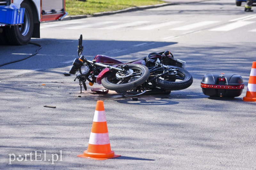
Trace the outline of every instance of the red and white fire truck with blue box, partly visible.
{"type": "Polygon", "coordinates": [[[0,0],[0,45],[28,44],[31,38],[40,38],[41,22],[61,20],[67,14],[65,0],[0,0]],[[20,8],[8,9],[12,4],[20,8]],[[17,17],[23,21],[16,23],[17,17]]]}

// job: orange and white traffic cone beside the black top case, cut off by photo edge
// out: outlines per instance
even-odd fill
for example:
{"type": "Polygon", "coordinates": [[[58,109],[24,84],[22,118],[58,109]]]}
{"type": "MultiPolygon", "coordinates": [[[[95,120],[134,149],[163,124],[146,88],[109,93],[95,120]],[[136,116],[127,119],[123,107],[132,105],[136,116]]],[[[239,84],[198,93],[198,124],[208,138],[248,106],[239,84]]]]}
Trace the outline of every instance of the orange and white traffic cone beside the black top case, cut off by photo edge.
{"type": "Polygon", "coordinates": [[[249,77],[246,96],[243,98],[244,102],[256,102],[256,61],[252,63],[252,70],[249,77]]]}

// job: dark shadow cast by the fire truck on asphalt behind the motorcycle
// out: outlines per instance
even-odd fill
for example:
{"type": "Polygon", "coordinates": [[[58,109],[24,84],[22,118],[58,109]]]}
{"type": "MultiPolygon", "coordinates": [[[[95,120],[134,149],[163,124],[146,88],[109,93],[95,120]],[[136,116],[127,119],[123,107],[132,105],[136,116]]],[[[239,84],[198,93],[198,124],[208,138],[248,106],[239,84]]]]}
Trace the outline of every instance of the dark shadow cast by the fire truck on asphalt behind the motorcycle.
{"type": "MultiPolygon", "coordinates": [[[[0,69],[34,70],[66,67],[72,65],[73,60],[78,57],[78,40],[32,39],[31,42],[42,46],[42,49],[35,56],[14,64],[2,66],[0,69]]],[[[129,61],[148,55],[148,53],[141,55],[135,55],[134,53],[155,48],[166,51],[168,49],[163,47],[173,44],[176,44],[176,42],[86,40],[86,37],[84,37],[84,51],[82,54],[89,60],[92,60],[98,54],[102,54],[117,60],[129,61]]],[[[24,59],[35,53],[38,48],[38,46],[33,44],[25,46],[0,46],[0,65],[24,59]]]]}

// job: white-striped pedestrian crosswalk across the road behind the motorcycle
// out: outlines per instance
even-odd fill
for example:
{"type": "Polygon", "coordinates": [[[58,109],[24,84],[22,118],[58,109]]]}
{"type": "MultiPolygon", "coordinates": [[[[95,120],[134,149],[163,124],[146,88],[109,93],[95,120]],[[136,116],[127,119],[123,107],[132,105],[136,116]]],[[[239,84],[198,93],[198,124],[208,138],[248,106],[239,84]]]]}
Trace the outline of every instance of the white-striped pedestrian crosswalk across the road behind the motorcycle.
{"type": "MultiPolygon", "coordinates": [[[[256,15],[249,15],[241,18],[236,18],[233,20],[229,20],[228,23],[215,26],[215,28],[206,28],[208,31],[231,31],[239,27],[243,27],[249,24],[256,23],[256,21],[246,21],[252,18],[256,18],[256,15]]],[[[167,27],[174,25],[181,25],[185,21],[166,21],[162,23],[152,23],[151,21],[135,21],[135,22],[127,22],[122,24],[116,24],[117,21],[99,21],[99,22],[86,22],[81,20],[74,20],[74,21],[64,21],[64,22],[49,22],[49,23],[42,23],[40,29],[51,28],[51,27],[61,27],[63,29],[83,29],[83,28],[97,28],[101,30],[112,30],[112,29],[119,29],[119,28],[129,28],[133,30],[153,30],[162,27],[167,27]],[[116,25],[113,25],[116,24],[116,25]],[[145,25],[146,24],[146,25],[145,25]],[[135,27],[134,27],[135,26],[135,27]]],[[[220,21],[202,21],[196,22],[188,25],[183,25],[179,27],[170,28],[168,30],[178,30],[178,31],[198,31],[193,29],[200,29],[200,27],[204,27],[207,25],[214,26],[213,24],[219,23],[220,21]]],[[[256,28],[248,30],[249,32],[256,32],[256,28]]]]}

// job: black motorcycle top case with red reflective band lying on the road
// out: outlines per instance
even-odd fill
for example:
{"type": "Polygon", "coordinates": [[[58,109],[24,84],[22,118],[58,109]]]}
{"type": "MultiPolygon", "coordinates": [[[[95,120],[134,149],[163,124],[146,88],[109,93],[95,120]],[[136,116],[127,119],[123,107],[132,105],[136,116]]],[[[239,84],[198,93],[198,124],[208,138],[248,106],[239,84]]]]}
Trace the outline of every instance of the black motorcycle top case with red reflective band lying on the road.
{"type": "Polygon", "coordinates": [[[237,74],[210,73],[204,75],[201,88],[206,96],[237,97],[243,92],[244,82],[237,74]]]}

